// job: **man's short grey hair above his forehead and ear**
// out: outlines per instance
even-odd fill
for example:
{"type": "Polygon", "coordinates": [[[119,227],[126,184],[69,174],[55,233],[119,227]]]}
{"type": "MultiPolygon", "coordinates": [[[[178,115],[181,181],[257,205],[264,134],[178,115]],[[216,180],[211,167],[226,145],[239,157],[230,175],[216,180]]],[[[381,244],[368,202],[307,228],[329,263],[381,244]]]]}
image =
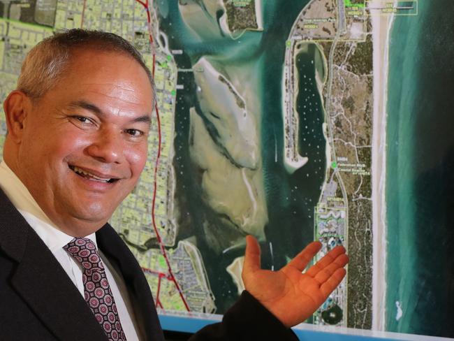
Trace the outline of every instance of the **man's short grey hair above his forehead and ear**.
{"type": "Polygon", "coordinates": [[[156,105],[156,87],[152,73],[145,65],[140,52],[117,34],[92,31],[87,29],[70,29],[45,38],[30,50],[17,80],[17,89],[31,99],[38,100],[52,89],[64,75],[71,57],[79,48],[125,53],[135,59],[147,73],[152,85],[153,108],[156,105]]]}

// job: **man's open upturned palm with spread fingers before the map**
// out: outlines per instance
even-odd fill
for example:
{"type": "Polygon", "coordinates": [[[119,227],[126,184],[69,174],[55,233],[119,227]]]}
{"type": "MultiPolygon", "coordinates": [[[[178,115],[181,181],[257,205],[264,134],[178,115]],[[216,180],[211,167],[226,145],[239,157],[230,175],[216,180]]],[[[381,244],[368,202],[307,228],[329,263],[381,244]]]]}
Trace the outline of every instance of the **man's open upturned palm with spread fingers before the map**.
{"type": "Polygon", "coordinates": [[[312,242],[279,271],[262,270],[260,246],[256,238],[246,237],[242,279],[246,290],[287,328],[310,317],[342,282],[349,261],[345,248],[337,246],[309,270],[302,273],[321,242],[312,242]]]}

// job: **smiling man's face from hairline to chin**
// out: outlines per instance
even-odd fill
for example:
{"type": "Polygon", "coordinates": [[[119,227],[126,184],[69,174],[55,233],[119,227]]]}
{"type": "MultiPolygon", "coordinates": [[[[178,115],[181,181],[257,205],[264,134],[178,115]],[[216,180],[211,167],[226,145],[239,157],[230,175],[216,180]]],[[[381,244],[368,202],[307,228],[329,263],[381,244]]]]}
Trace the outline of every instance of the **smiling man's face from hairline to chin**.
{"type": "Polygon", "coordinates": [[[30,105],[20,178],[71,235],[108,221],[147,159],[152,87],[131,57],[81,50],[57,85],[30,105]]]}

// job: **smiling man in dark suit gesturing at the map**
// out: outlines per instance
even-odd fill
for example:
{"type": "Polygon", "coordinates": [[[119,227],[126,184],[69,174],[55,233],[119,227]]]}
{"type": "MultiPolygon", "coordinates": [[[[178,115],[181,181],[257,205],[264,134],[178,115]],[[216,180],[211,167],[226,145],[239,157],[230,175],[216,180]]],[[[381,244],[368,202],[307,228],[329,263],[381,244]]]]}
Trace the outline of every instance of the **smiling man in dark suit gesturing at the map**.
{"type": "MultiPolygon", "coordinates": [[[[163,340],[138,263],[107,222],[147,159],[154,84],[114,34],[75,29],[31,50],[4,101],[0,165],[1,340],[163,340]]],[[[261,270],[248,236],[247,291],[193,340],[294,339],[342,281],[343,247],[261,270]]]]}

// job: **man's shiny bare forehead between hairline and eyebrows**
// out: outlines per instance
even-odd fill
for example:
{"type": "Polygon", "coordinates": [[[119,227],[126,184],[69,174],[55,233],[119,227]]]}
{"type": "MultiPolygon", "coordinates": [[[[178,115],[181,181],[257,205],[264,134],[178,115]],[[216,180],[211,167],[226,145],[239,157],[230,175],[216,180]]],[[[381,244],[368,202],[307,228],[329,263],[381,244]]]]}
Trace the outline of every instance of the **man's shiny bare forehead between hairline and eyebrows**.
{"type": "Polygon", "coordinates": [[[45,94],[59,102],[85,100],[117,110],[152,112],[152,85],[142,66],[124,52],[79,49],[45,94]]]}

